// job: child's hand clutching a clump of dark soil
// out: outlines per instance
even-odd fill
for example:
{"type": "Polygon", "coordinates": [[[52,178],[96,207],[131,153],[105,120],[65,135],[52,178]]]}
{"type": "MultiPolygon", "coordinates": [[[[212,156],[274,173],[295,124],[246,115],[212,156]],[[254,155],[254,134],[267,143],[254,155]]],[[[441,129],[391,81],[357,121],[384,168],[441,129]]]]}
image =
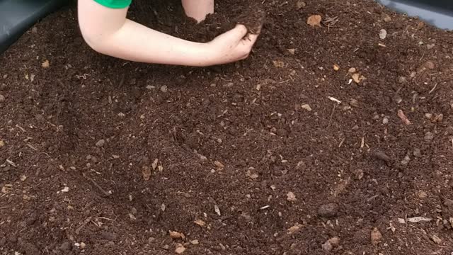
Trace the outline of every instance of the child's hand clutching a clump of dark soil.
{"type": "Polygon", "coordinates": [[[209,65],[226,64],[243,60],[250,55],[258,35],[247,35],[247,28],[238,25],[211,42],[207,42],[210,52],[209,65]],[[247,35],[247,36],[246,36],[247,35]]]}

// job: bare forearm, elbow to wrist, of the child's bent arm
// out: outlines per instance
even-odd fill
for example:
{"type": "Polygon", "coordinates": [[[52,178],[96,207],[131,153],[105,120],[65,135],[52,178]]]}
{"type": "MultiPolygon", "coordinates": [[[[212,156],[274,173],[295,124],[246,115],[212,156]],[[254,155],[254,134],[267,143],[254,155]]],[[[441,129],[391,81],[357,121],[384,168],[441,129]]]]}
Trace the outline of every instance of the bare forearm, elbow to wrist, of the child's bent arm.
{"type": "Polygon", "coordinates": [[[86,39],[94,50],[123,60],[188,66],[212,62],[208,45],[175,38],[130,20],[115,33],[86,39]]]}

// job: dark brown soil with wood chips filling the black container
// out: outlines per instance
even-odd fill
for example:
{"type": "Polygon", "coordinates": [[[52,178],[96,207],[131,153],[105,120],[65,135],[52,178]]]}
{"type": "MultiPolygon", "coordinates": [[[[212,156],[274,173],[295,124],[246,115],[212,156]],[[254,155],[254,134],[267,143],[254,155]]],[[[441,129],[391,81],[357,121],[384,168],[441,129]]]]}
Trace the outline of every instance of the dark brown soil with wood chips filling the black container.
{"type": "Polygon", "coordinates": [[[370,0],[130,17],[205,42],[250,2],[235,64],[99,55],[74,6],[0,56],[0,254],[453,252],[453,34],[370,0]]]}

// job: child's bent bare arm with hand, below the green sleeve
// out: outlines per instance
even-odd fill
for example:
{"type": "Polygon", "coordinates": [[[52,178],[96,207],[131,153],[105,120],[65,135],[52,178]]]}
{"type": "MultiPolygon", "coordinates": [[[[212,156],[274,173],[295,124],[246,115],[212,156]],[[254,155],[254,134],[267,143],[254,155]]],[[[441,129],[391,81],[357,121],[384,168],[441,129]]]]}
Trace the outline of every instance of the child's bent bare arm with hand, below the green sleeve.
{"type": "Polygon", "coordinates": [[[126,18],[127,8],[107,8],[79,0],[79,24],[93,50],[134,62],[210,66],[248,57],[258,35],[244,39],[247,29],[236,26],[211,42],[189,42],[151,30],[126,18]]]}

